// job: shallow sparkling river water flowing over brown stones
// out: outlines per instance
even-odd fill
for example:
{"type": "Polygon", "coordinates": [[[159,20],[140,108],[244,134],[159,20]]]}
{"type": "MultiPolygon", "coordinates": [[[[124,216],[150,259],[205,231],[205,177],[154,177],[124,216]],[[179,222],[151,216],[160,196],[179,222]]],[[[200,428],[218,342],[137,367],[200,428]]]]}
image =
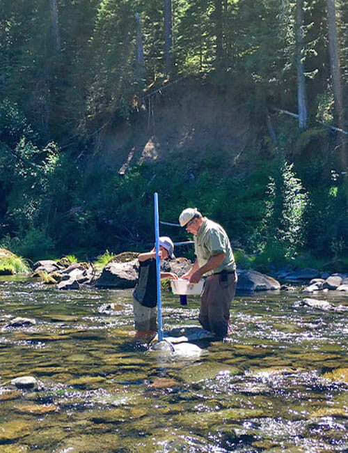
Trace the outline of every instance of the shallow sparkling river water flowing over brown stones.
{"type": "MultiPolygon", "coordinates": [[[[336,291],[315,297],[348,305],[336,291]]],[[[237,295],[228,339],[174,359],[134,341],[130,290],[1,277],[0,452],[347,451],[348,313],[301,298],[237,295]],[[6,327],[13,316],[36,324],[6,327]],[[38,388],[16,389],[18,376],[38,388]]],[[[162,299],[164,330],[198,325],[199,298],[162,299]]]]}

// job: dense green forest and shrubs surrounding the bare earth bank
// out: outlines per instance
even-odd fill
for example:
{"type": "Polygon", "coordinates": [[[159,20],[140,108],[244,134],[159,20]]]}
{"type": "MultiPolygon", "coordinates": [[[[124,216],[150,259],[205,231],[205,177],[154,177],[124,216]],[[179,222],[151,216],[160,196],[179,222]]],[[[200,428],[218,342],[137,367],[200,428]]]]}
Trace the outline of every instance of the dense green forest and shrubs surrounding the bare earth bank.
{"type": "Polygon", "coordinates": [[[348,129],[348,11],[333,1],[328,21],[332,1],[2,0],[1,244],[31,259],[140,249],[151,241],[157,191],[165,220],[198,206],[264,261],[342,259],[347,135],[322,123],[348,129]],[[207,156],[193,179],[166,162],[123,177],[86,171],[99,128],[134,121],[146,94],[188,78],[246,107],[267,161],[228,176],[207,156]],[[276,107],[301,116],[299,86],[305,130],[284,116],[267,123],[276,107]]]}

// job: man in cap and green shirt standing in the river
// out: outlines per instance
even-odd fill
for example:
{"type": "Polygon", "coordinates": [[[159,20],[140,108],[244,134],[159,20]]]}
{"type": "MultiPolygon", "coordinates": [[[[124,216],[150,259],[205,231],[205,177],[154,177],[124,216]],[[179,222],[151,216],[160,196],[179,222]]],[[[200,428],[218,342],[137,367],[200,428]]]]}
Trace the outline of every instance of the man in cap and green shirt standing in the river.
{"type": "Polygon", "coordinates": [[[180,226],[194,236],[196,261],[185,275],[191,283],[205,279],[200,298],[200,324],[217,339],[228,333],[230,303],[235,296],[237,272],[230,240],[221,225],[203,217],[196,208],[187,208],[179,217],[180,226]]]}

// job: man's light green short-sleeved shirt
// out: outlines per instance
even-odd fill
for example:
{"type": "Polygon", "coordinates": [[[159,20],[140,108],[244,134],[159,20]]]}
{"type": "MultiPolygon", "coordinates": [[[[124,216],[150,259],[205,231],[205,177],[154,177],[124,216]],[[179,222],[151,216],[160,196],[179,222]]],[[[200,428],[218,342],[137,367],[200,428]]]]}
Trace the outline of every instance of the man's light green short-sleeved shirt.
{"type": "Polygon", "coordinates": [[[221,225],[205,218],[198,230],[197,236],[194,237],[194,243],[195,254],[200,268],[204,266],[212,256],[219,253],[226,254],[221,265],[206,272],[205,276],[216,274],[217,272],[221,272],[221,270],[235,270],[235,258],[233,256],[230,240],[221,225]]]}

